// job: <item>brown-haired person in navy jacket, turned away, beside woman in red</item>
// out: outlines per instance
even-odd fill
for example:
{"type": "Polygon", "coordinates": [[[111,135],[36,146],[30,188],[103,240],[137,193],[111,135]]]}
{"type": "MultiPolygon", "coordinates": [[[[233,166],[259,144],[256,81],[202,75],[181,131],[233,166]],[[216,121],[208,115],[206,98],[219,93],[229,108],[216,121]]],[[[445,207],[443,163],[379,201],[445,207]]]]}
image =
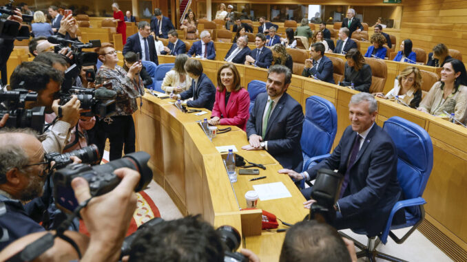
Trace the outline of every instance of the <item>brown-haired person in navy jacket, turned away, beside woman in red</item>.
{"type": "Polygon", "coordinates": [[[180,94],[170,94],[170,98],[181,100],[193,98],[193,100],[187,101],[187,107],[212,110],[214,100],[216,100],[216,87],[214,87],[209,77],[203,73],[203,65],[198,60],[188,59],[187,63],[185,63],[185,71],[192,79],[191,87],[180,94]]]}

